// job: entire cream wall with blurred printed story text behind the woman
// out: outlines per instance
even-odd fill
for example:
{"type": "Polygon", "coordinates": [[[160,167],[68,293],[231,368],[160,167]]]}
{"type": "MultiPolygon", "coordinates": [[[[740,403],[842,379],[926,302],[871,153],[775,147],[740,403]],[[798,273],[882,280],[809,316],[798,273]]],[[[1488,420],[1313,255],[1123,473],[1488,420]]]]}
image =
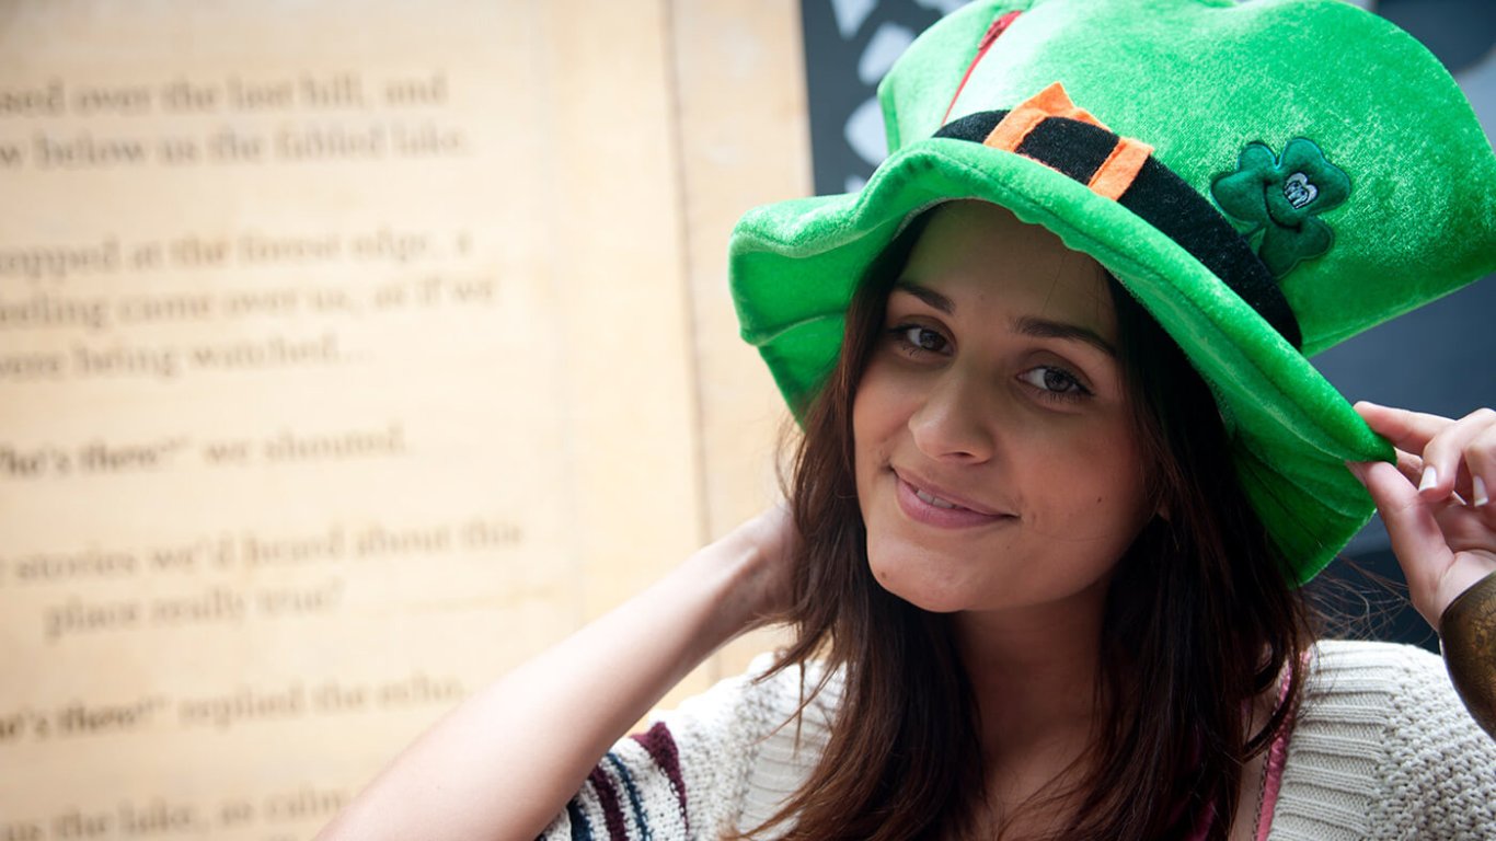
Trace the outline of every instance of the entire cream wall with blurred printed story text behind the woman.
{"type": "Polygon", "coordinates": [[[0,840],[310,837],[772,498],[797,15],[0,4],[0,840]]]}

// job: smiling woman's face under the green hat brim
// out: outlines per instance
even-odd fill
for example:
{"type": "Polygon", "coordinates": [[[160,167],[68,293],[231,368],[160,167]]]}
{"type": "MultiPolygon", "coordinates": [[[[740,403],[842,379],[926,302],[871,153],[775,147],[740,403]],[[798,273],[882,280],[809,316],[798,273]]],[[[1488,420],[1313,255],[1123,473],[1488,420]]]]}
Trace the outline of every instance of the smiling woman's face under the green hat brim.
{"type": "Polygon", "coordinates": [[[853,404],[868,560],[928,611],[1104,593],[1153,515],[1101,268],[984,202],[935,211],[853,404]]]}

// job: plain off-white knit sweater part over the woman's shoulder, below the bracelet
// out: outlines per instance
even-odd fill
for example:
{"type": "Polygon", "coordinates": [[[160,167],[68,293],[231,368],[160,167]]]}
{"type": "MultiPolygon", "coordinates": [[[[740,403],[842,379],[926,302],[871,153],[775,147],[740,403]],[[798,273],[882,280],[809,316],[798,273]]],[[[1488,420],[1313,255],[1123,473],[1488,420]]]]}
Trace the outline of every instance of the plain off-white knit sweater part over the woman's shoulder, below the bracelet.
{"type": "Polygon", "coordinates": [[[1439,657],[1319,645],[1270,838],[1496,838],[1496,742],[1460,705],[1439,657]]]}

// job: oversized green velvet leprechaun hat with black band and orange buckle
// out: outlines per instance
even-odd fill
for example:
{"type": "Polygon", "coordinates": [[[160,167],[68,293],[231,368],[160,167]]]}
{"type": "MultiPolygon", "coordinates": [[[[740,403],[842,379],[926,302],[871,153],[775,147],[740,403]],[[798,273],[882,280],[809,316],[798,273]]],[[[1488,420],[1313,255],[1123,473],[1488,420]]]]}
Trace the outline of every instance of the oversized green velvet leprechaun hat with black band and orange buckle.
{"type": "Polygon", "coordinates": [[[857,193],[749,211],[742,335],[796,413],[868,263],[983,199],[1107,268],[1216,394],[1263,522],[1308,581],[1370,518],[1388,459],[1306,361],[1496,269],[1496,156],[1439,61],[1339,0],[978,0],[878,90],[857,193]]]}

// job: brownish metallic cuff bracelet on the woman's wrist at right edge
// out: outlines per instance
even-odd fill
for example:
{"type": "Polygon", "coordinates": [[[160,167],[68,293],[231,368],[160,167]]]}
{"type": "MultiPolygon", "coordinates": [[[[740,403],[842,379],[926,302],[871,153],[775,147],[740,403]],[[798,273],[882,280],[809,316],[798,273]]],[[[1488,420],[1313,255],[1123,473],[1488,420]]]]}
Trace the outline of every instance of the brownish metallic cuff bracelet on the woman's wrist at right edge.
{"type": "Polygon", "coordinates": [[[1496,573],[1444,609],[1439,648],[1454,691],[1475,723],[1496,738],[1496,573]]]}

